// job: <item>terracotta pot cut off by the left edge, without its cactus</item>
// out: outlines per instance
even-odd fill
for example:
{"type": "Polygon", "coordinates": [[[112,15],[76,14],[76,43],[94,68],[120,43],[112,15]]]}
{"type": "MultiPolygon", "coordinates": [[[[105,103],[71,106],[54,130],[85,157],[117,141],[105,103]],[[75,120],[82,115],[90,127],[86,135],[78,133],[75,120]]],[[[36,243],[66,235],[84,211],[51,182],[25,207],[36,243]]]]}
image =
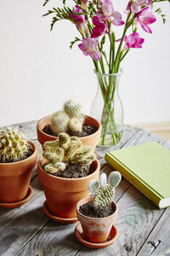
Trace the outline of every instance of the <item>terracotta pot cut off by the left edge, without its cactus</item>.
{"type": "Polygon", "coordinates": [[[26,197],[32,169],[37,163],[37,148],[31,144],[33,154],[14,163],[0,163],[0,202],[21,201],[26,197]]]}

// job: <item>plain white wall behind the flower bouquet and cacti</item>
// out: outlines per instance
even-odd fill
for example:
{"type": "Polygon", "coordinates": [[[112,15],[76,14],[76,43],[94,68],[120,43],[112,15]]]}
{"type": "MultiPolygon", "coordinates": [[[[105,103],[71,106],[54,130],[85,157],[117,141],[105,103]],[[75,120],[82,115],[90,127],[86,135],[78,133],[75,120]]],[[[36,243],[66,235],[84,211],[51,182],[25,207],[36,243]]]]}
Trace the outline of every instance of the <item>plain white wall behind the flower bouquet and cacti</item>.
{"type": "MultiPolygon", "coordinates": [[[[120,1],[120,0],[116,0],[120,1]]],[[[89,112],[96,91],[93,63],[77,48],[69,49],[75,27],[60,21],[49,31],[51,6],[40,0],[0,2],[0,126],[40,119],[61,108],[71,96],[89,112]]],[[[124,1],[122,1],[124,4],[124,1]]],[[[169,16],[170,4],[163,4],[169,16]]],[[[169,121],[170,19],[141,32],[143,49],[132,49],[122,63],[120,95],[125,123],[169,121]]]]}

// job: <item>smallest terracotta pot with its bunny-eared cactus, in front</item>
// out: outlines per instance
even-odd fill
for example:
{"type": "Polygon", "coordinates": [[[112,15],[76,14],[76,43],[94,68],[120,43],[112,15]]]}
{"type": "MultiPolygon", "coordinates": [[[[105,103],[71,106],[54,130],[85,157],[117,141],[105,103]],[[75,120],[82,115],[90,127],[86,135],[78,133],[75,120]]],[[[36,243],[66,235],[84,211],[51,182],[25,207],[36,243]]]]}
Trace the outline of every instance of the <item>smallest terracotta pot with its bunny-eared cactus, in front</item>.
{"type": "Polygon", "coordinates": [[[77,203],[77,218],[82,225],[86,241],[91,243],[107,241],[116,219],[117,206],[113,197],[115,187],[120,183],[121,178],[120,172],[111,172],[107,184],[106,175],[102,173],[99,178],[100,184],[96,180],[88,183],[88,189],[94,196],[84,198],[77,203]]]}

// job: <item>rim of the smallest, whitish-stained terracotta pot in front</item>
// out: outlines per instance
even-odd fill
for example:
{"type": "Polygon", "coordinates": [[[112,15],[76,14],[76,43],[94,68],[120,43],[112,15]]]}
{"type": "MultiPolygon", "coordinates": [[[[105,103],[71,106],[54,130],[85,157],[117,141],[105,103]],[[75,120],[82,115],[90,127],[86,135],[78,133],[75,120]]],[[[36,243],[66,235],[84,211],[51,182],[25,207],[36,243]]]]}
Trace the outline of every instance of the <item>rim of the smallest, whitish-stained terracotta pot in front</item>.
{"type": "Polygon", "coordinates": [[[103,219],[111,218],[114,214],[117,213],[118,207],[117,207],[117,205],[116,205],[116,202],[115,202],[115,201],[112,201],[112,204],[114,205],[114,207],[115,207],[116,210],[115,210],[115,212],[113,212],[111,215],[109,215],[109,216],[107,216],[107,217],[103,217],[103,218],[92,218],[92,217],[88,217],[88,216],[86,216],[86,215],[83,215],[83,214],[79,211],[79,207],[81,207],[81,206],[83,205],[83,203],[78,207],[79,203],[81,203],[82,201],[86,201],[86,200],[92,201],[93,198],[94,198],[94,195],[90,195],[90,196],[85,197],[85,198],[83,198],[82,200],[80,200],[80,201],[77,202],[77,212],[78,212],[78,214],[79,214],[80,216],[82,216],[82,218],[93,219],[93,220],[96,220],[96,221],[97,221],[97,220],[101,220],[101,219],[103,220],[103,219]]]}

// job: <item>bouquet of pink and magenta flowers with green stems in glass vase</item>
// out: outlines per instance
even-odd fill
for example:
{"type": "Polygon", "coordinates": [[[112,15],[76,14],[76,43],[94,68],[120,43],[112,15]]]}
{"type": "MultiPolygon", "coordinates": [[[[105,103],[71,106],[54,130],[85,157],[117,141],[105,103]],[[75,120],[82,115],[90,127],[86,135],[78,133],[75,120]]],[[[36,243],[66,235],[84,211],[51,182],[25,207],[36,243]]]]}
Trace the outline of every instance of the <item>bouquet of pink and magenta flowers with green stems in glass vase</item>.
{"type": "MultiPolygon", "coordinates": [[[[43,5],[48,3],[46,0],[43,5]]],[[[156,21],[153,12],[166,17],[161,8],[154,9],[156,3],[170,0],[130,0],[122,14],[114,9],[111,0],[72,0],[73,7],[62,0],[62,8],[48,10],[45,15],[54,15],[51,29],[58,20],[70,20],[80,32],[81,37],[71,42],[89,55],[94,61],[95,73],[98,76],[99,88],[103,99],[100,122],[102,124],[101,146],[115,145],[122,137],[122,119],[116,114],[116,87],[122,70],[120,64],[131,48],[141,48],[144,38],[139,36],[138,29],[151,33],[150,24],[156,21]],[[122,27],[122,36],[117,38],[115,26],[122,27]],[[109,42],[106,43],[106,39],[109,42]],[[108,49],[109,48],[109,49],[108,49]],[[107,136],[110,142],[108,143],[107,136]]],[[[121,103],[119,104],[122,108],[121,103]]],[[[98,118],[97,118],[98,119],[98,118]]]]}

